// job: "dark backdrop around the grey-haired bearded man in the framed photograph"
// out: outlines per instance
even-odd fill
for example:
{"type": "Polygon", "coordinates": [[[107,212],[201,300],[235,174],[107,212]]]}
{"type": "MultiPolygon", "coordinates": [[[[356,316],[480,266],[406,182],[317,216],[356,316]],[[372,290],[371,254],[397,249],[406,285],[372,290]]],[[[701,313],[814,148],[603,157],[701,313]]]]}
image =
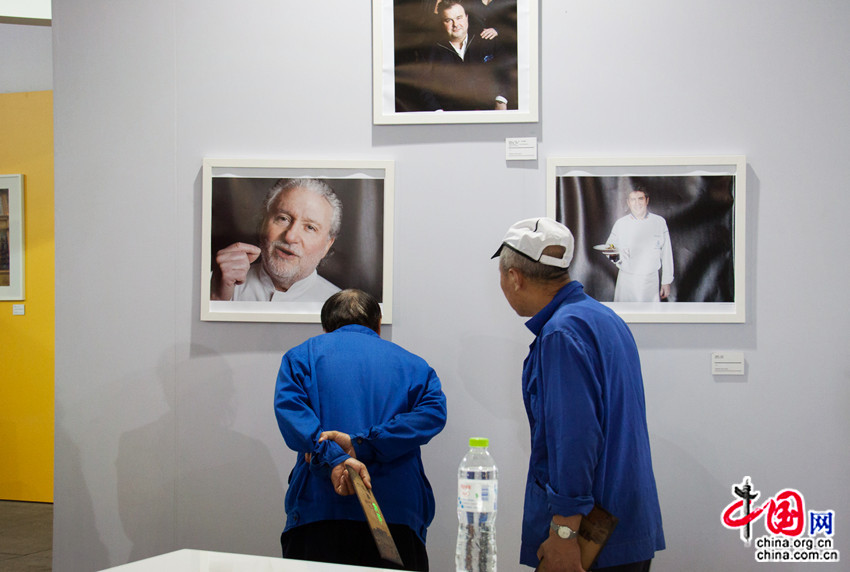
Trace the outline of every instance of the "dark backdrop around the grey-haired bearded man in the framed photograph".
{"type": "MultiPolygon", "coordinates": [[[[322,179],[342,201],[342,228],[318,272],[340,288],[358,288],[383,302],[384,181],[322,179]]],[[[277,180],[213,177],[211,262],[234,242],[259,245],[263,200],[277,180]]]]}

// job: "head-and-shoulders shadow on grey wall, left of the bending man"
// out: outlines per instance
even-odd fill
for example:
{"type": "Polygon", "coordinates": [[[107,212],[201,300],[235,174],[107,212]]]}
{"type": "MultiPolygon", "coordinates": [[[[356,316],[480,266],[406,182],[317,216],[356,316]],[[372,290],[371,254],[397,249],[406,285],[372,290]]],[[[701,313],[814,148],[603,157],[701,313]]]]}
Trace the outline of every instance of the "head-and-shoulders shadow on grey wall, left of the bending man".
{"type": "Polygon", "coordinates": [[[190,350],[160,362],[169,410],[119,440],[118,506],[130,561],[178,548],[279,555],[283,487],[271,454],[232,428],[227,361],[208,348],[190,350]]]}

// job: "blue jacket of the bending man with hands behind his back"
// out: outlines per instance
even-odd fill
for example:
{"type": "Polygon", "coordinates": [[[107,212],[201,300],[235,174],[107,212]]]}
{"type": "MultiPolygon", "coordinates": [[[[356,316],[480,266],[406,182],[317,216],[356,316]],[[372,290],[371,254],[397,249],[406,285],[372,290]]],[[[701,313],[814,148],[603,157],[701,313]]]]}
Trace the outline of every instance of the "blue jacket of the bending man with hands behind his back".
{"type": "Polygon", "coordinates": [[[275,389],[283,438],[296,451],[286,491],[286,526],[365,520],[355,496],[333,491],[330,470],[348,455],[322,431],[351,435],[386,520],[425,542],[434,493],[419,447],[446,424],[440,380],[420,357],[359,325],[316,336],[283,356],[275,389]],[[304,453],[311,453],[310,463],[304,453]]]}

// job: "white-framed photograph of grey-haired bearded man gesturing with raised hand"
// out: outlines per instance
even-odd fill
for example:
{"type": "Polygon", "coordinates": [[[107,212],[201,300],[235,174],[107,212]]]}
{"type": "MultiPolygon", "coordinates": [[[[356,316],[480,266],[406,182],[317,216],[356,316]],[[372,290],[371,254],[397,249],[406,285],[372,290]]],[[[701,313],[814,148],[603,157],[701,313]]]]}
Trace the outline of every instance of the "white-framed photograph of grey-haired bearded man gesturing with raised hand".
{"type": "Polygon", "coordinates": [[[204,159],[201,319],[319,323],[358,288],[392,323],[393,167],[204,159]]]}

